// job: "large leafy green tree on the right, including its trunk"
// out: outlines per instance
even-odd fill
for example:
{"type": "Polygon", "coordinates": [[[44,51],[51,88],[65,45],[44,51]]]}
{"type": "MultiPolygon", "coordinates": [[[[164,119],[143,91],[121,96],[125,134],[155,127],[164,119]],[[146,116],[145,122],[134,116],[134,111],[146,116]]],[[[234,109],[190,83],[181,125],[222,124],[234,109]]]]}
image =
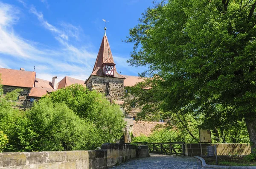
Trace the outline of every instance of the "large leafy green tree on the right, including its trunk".
{"type": "Polygon", "coordinates": [[[134,42],[131,65],[157,74],[137,87],[148,90],[134,92],[142,116],[157,107],[210,118],[211,126],[244,119],[256,147],[255,7],[255,0],[169,0],[148,8],[126,40],[134,42]]]}

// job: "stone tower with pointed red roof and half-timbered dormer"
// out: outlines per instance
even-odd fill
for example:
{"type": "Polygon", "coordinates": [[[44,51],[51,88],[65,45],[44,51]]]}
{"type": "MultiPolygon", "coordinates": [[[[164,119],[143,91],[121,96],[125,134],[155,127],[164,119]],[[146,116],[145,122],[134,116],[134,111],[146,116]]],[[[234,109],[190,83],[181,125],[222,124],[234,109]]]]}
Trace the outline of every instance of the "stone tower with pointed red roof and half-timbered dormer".
{"type": "Polygon", "coordinates": [[[105,94],[111,102],[115,101],[117,104],[122,104],[125,77],[116,71],[116,64],[106,35],[107,28],[105,27],[104,29],[105,34],[102,38],[93,71],[84,84],[90,90],[97,90],[105,94]]]}

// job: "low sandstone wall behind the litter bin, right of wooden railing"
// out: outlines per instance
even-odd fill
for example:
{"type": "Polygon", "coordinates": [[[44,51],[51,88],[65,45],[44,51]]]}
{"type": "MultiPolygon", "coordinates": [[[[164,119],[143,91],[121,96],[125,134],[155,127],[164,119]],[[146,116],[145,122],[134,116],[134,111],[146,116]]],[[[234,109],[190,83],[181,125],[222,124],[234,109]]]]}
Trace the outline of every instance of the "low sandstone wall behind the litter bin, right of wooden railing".
{"type": "MultiPolygon", "coordinates": [[[[203,155],[207,155],[207,146],[211,144],[202,144],[203,155]]],[[[250,145],[247,144],[216,144],[216,146],[217,155],[248,155],[251,153],[250,145]]],[[[185,151],[186,156],[201,155],[200,144],[185,144],[185,151]]]]}

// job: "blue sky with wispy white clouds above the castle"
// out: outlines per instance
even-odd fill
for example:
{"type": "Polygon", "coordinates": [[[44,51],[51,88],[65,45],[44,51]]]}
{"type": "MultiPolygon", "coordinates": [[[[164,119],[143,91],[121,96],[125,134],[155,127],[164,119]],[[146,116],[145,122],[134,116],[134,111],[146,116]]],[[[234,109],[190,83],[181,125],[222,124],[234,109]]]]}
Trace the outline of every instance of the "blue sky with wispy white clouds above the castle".
{"type": "Polygon", "coordinates": [[[90,76],[107,23],[117,71],[137,76],[122,42],[151,0],[0,0],[0,68],[35,71],[51,80],[90,76]]]}

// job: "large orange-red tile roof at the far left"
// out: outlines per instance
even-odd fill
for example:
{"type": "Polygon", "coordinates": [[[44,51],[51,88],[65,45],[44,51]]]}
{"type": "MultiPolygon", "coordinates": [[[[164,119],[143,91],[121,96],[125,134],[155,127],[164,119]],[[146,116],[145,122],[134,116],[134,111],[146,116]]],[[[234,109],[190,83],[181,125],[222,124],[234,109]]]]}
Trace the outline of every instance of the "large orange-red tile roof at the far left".
{"type": "Polygon", "coordinates": [[[35,72],[0,68],[2,85],[17,87],[34,87],[35,72]]]}

